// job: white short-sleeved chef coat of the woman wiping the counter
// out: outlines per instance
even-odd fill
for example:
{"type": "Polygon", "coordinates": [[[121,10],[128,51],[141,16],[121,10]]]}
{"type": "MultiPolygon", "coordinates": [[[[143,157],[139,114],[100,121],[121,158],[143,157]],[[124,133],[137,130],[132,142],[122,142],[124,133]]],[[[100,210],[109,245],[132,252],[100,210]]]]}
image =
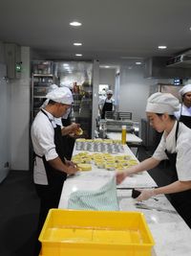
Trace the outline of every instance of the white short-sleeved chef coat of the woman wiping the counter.
{"type": "Polygon", "coordinates": [[[177,174],[179,180],[191,180],[191,129],[180,123],[177,145],[176,145],[176,128],[178,122],[176,121],[174,127],[167,135],[163,132],[159,146],[154,152],[153,157],[158,160],[168,159],[165,150],[169,152],[177,152],[177,174]]]}

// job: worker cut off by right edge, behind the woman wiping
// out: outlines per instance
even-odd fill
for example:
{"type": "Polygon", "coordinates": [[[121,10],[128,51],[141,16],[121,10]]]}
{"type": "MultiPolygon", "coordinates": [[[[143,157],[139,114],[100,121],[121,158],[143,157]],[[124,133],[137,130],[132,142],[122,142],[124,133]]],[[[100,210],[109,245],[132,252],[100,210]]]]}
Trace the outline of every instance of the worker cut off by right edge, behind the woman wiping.
{"type": "Polygon", "coordinates": [[[191,84],[186,84],[180,89],[180,111],[175,115],[186,127],[191,128],[191,84]]]}

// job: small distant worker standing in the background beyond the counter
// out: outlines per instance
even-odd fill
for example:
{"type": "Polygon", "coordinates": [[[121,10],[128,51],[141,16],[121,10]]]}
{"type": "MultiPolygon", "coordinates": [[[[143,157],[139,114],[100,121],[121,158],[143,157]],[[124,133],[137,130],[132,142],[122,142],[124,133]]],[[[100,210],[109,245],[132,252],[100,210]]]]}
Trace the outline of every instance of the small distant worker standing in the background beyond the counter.
{"type": "Polygon", "coordinates": [[[98,103],[99,113],[100,113],[101,119],[105,119],[105,112],[106,111],[115,110],[115,100],[112,98],[113,91],[108,90],[106,94],[107,94],[107,97],[106,98],[101,98],[99,103],[98,103]]]}

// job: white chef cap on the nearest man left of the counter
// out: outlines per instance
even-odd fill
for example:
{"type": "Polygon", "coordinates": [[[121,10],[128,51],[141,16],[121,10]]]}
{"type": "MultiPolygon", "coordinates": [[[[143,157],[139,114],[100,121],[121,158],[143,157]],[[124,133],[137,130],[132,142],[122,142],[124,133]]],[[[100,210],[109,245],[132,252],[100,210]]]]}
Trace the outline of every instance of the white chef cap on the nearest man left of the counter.
{"type": "Polygon", "coordinates": [[[58,87],[46,95],[46,98],[60,104],[72,105],[73,94],[67,87],[58,87]]]}

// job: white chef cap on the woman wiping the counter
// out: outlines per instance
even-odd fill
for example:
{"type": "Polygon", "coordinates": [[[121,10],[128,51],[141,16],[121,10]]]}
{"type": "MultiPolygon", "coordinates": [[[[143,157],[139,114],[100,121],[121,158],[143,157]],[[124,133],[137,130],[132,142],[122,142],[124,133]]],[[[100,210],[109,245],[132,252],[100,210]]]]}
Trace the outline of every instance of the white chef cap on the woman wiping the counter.
{"type": "Polygon", "coordinates": [[[146,112],[159,114],[168,113],[169,115],[173,115],[174,112],[179,111],[179,109],[180,102],[171,93],[156,92],[147,100],[146,112]]]}

